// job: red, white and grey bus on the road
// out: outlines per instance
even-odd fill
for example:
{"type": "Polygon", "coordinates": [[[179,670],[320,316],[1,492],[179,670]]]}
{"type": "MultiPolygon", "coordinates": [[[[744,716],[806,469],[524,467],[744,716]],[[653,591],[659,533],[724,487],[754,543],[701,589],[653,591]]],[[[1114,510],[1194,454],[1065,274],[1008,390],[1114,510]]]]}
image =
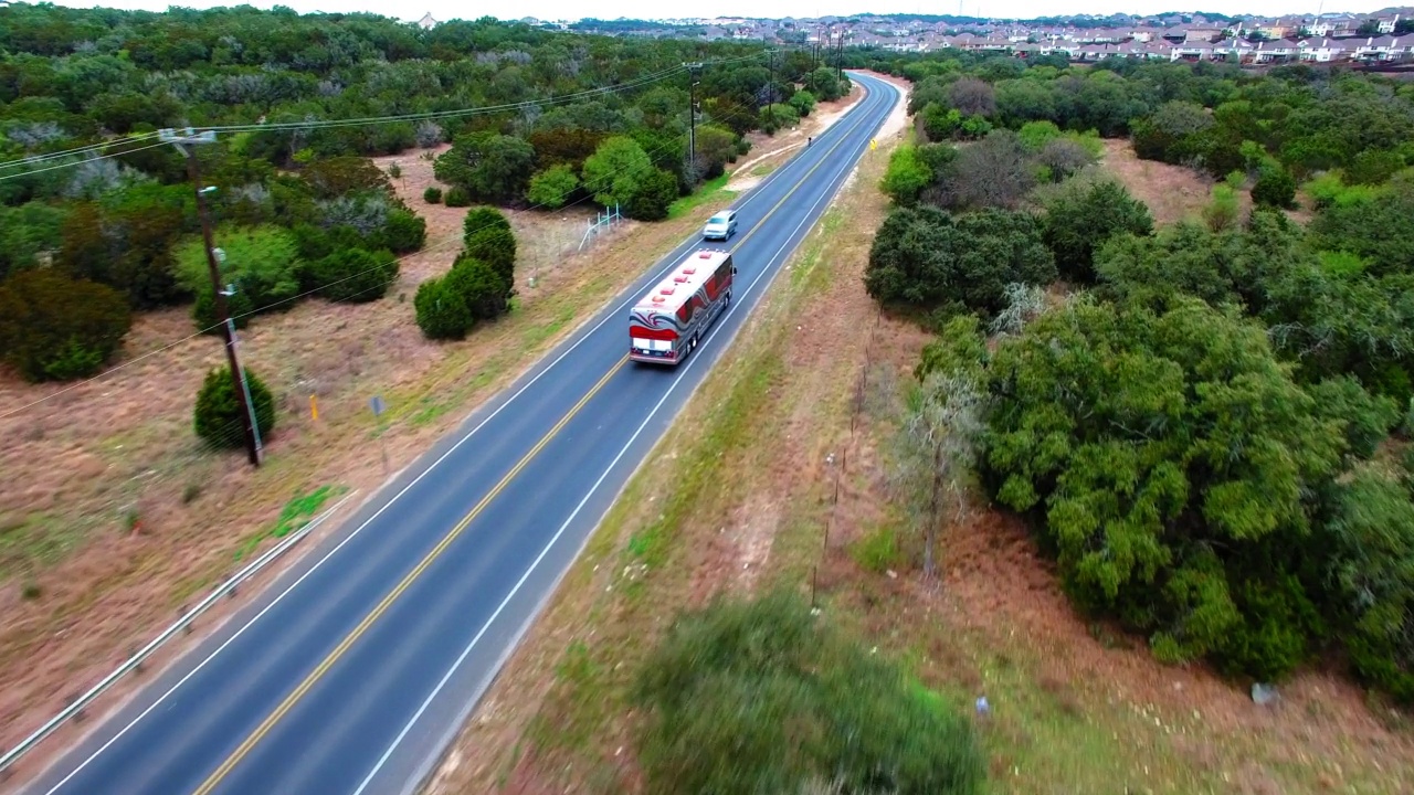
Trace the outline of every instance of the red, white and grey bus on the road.
{"type": "Polygon", "coordinates": [[[676,365],[731,304],[731,252],[699,249],[633,306],[628,358],[676,365]]]}

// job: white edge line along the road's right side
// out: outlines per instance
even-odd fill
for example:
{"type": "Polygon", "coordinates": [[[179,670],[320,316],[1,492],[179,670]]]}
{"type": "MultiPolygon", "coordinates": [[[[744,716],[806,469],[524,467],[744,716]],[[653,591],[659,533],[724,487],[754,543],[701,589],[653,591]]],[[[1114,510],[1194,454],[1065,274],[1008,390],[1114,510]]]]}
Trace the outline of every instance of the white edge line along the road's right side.
{"type": "MultiPolygon", "coordinates": [[[[884,81],[881,81],[881,82],[884,82],[884,81]]],[[[896,98],[898,96],[896,88],[892,86],[891,83],[889,83],[889,86],[895,89],[895,98],[896,98]]],[[[896,103],[896,99],[895,99],[895,103],[896,103]]],[[[880,119],[880,126],[882,126],[882,123],[887,122],[887,120],[888,120],[888,116],[885,115],[882,119],[880,119]]],[[[864,146],[865,144],[861,141],[860,149],[863,149],[864,146]]],[[[840,174],[840,177],[836,177],[834,180],[840,180],[843,177],[848,177],[848,174],[853,173],[855,168],[858,168],[858,160],[857,158],[855,158],[854,164],[851,164],[851,167],[848,170],[846,170],[843,174],[840,174]]],[[[831,180],[831,182],[834,180],[831,180]]],[[[772,276],[772,282],[775,282],[775,276],[781,274],[781,270],[773,265],[776,262],[776,259],[779,259],[781,255],[786,250],[786,248],[790,246],[790,240],[796,236],[796,233],[800,231],[800,228],[805,226],[805,224],[807,221],[810,221],[810,215],[814,214],[816,208],[820,207],[820,202],[823,202],[826,198],[830,198],[833,201],[837,194],[839,194],[839,190],[827,192],[827,194],[820,194],[820,197],[814,199],[814,204],[810,205],[810,209],[809,209],[809,212],[806,212],[805,218],[802,218],[800,222],[796,224],[796,228],[790,231],[790,235],[788,235],[786,239],[785,239],[785,242],[781,243],[781,248],[776,249],[776,253],[775,253],[775,256],[771,257],[771,262],[768,263],[768,266],[765,269],[762,269],[762,272],[759,274],[756,274],[755,279],[752,279],[751,284],[747,286],[745,294],[751,294],[751,291],[756,287],[756,283],[761,282],[768,273],[772,276]],[[775,272],[772,272],[773,267],[776,267],[775,272]]],[[[800,246],[800,242],[797,242],[795,246],[790,246],[790,253],[795,253],[795,250],[799,249],[799,246],[800,246]]],[[[771,286],[771,283],[766,284],[766,287],[769,287],[769,286],[771,286]]],[[[732,303],[731,307],[727,311],[727,317],[730,317],[731,313],[737,311],[737,307],[740,307],[740,306],[741,306],[740,301],[732,303]]],[[[725,321],[725,317],[723,318],[723,321],[725,321]]],[[[713,341],[713,338],[717,337],[717,332],[721,331],[723,328],[725,328],[725,323],[717,323],[717,325],[713,328],[711,334],[707,335],[707,342],[704,342],[704,345],[710,344],[713,341]]],[[[738,331],[740,331],[740,328],[738,328],[738,331]]],[[[715,362],[717,359],[720,359],[723,354],[725,354],[725,349],[718,351],[717,352],[717,358],[713,359],[713,362],[715,362]]],[[[363,778],[363,782],[359,784],[358,789],[354,791],[354,795],[362,795],[363,789],[368,788],[369,782],[372,782],[373,778],[378,775],[378,772],[383,768],[383,765],[387,764],[387,760],[393,755],[393,751],[397,750],[397,745],[402,744],[403,738],[407,737],[407,733],[411,731],[411,729],[417,723],[417,720],[421,719],[421,716],[423,716],[424,712],[427,712],[427,707],[431,706],[433,700],[441,693],[443,687],[447,686],[447,682],[451,680],[452,676],[455,676],[457,669],[461,668],[461,663],[467,661],[467,658],[471,655],[472,649],[481,641],[482,635],[486,634],[486,629],[489,629],[491,625],[495,624],[496,618],[501,615],[501,611],[505,610],[508,604],[510,604],[510,600],[515,598],[516,593],[520,591],[520,587],[525,586],[526,580],[530,579],[530,574],[533,574],[534,570],[540,566],[540,562],[544,560],[544,556],[549,555],[549,552],[554,547],[556,543],[559,543],[560,536],[564,535],[564,530],[568,529],[570,523],[574,522],[574,519],[580,515],[580,511],[584,509],[584,506],[588,504],[588,501],[594,498],[594,494],[598,492],[600,487],[609,477],[609,472],[614,471],[614,468],[624,458],[624,455],[629,451],[629,448],[633,446],[633,443],[638,441],[638,437],[639,437],[639,434],[643,433],[643,429],[646,429],[649,426],[649,423],[652,423],[655,420],[655,417],[658,416],[659,409],[663,407],[663,403],[667,402],[667,399],[673,395],[673,390],[677,389],[677,385],[682,383],[683,378],[687,376],[687,373],[691,371],[693,365],[696,365],[699,361],[700,359],[696,359],[696,358],[691,359],[690,362],[687,362],[687,366],[684,366],[682,369],[682,372],[677,373],[677,378],[673,379],[672,386],[669,386],[667,392],[665,392],[663,396],[658,400],[658,405],[653,406],[653,410],[649,412],[648,417],[638,426],[638,430],[633,431],[633,436],[631,436],[629,440],[624,444],[624,447],[618,451],[618,455],[615,455],[614,460],[609,463],[609,465],[604,468],[604,474],[600,475],[600,480],[594,481],[594,485],[590,487],[590,491],[584,495],[583,499],[580,499],[580,504],[574,506],[574,511],[570,513],[570,516],[564,521],[563,525],[560,525],[560,529],[554,532],[554,535],[550,538],[550,542],[544,546],[544,549],[540,550],[540,555],[536,556],[536,559],[530,563],[530,567],[526,569],[525,574],[520,576],[520,580],[510,588],[510,593],[506,594],[506,598],[503,598],[501,601],[501,604],[496,607],[495,613],[491,614],[491,618],[486,620],[486,622],[481,627],[481,629],[471,639],[471,642],[467,644],[467,648],[462,649],[462,652],[457,658],[457,661],[451,663],[451,668],[448,668],[447,673],[443,675],[443,678],[441,678],[440,682],[437,682],[437,686],[433,687],[433,692],[428,693],[426,699],[423,699],[421,706],[417,707],[417,712],[413,713],[413,717],[409,719],[407,724],[403,726],[403,730],[399,731],[397,737],[393,738],[393,743],[387,747],[386,751],[383,751],[383,755],[379,757],[378,762],[373,765],[373,770],[369,771],[369,774],[363,778]]],[[[699,383],[699,386],[701,386],[701,383],[699,383]]],[[[625,482],[625,485],[626,485],[626,482],[625,482]]],[[[588,539],[594,533],[590,533],[590,536],[585,536],[585,543],[588,543],[588,539]]],[[[583,550],[583,545],[581,545],[581,550],[583,550]]],[[[575,555],[575,557],[578,557],[578,555],[575,555]]],[[[554,593],[554,590],[551,588],[546,594],[546,597],[553,596],[553,593],[554,593]]],[[[543,600],[542,600],[542,603],[543,603],[543,600]]],[[[520,632],[518,635],[523,635],[525,634],[526,628],[530,627],[530,624],[533,622],[533,620],[534,620],[534,617],[537,614],[539,614],[539,610],[530,614],[530,617],[522,625],[520,632]]],[[[509,651],[513,651],[513,649],[515,649],[515,646],[510,646],[509,651]]],[[[499,669],[501,666],[498,665],[496,668],[499,669]]],[[[452,731],[460,731],[461,730],[461,723],[462,721],[458,721],[457,726],[454,726],[452,731]]],[[[440,748],[438,748],[438,755],[440,755],[440,748]]],[[[419,781],[420,778],[421,778],[421,775],[414,777],[413,782],[410,782],[410,784],[416,788],[417,785],[421,784],[419,781]]]]}

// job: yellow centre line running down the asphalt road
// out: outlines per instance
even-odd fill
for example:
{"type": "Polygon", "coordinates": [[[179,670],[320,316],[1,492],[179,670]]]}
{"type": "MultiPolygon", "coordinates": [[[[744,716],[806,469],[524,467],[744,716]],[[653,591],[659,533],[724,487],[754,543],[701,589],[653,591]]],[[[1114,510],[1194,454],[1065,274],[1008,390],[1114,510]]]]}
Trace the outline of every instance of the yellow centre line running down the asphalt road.
{"type": "MultiPolygon", "coordinates": [[[[863,102],[864,100],[861,100],[861,103],[863,102]]],[[[802,185],[806,184],[810,175],[814,174],[816,170],[820,168],[820,166],[824,166],[830,160],[830,154],[833,154],[836,149],[839,149],[846,140],[848,140],[850,133],[853,133],[860,124],[863,124],[867,117],[868,115],[865,113],[864,117],[851,124],[848,132],[840,136],[840,140],[836,141],[834,146],[831,146],[820,157],[819,163],[816,163],[809,171],[805,173],[805,177],[800,177],[800,181],[796,182],[796,185],[790,188],[790,191],[786,192],[786,195],[781,197],[781,201],[778,201],[775,207],[772,207],[771,211],[765,215],[765,218],[762,218],[749,232],[747,232],[747,235],[741,240],[737,242],[732,250],[745,245],[745,242],[749,240],[751,236],[755,235],[756,231],[761,229],[765,225],[765,222],[772,215],[775,215],[776,211],[781,209],[786,204],[786,201],[792,195],[795,195],[796,191],[800,190],[802,185]]],[[[581,409],[584,409],[585,403],[588,403],[595,395],[598,395],[600,390],[604,389],[604,385],[607,385],[609,379],[614,378],[615,373],[624,369],[624,365],[626,364],[628,358],[625,356],[619,359],[617,365],[609,368],[609,371],[604,373],[604,378],[601,378],[598,383],[590,388],[590,390],[584,393],[584,398],[580,398],[580,402],[575,403],[564,414],[564,417],[561,417],[560,422],[554,424],[554,427],[551,427],[543,437],[540,437],[540,441],[537,441],[536,446],[532,447],[530,451],[526,453],[520,458],[520,461],[518,461],[516,465],[512,467],[509,472],[506,472],[503,478],[501,478],[501,482],[498,482],[491,491],[488,491],[486,495],[481,498],[481,502],[477,502],[475,508],[472,508],[471,512],[467,513],[467,516],[462,518],[461,522],[457,522],[457,526],[452,528],[451,532],[447,533],[447,536],[443,538],[441,542],[438,542],[437,546],[433,547],[433,550],[428,552],[426,557],[423,557],[423,560],[417,564],[417,567],[409,571],[407,576],[404,576],[403,580],[397,583],[397,587],[389,591],[387,596],[385,596],[383,600],[378,603],[378,607],[375,607],[372,613],[365,615],[363,621],[361,621],[359,625],[355,627],[354,631],[349,632],[348,637],[345,637],[344,641],[332,652],[329,652],[329,655],[325,656],[324,661],[320,662],[320,665],[314,671],[311,671],[308,676],[304,678],[303,682],[300,682],[300,686],[296,687],[293,692],[290,692],[290,695],[286,696],[283,702],[280,702],[280,706],[277,706],[274,712],[271,712],[260,723],[260,726],[257,726],[256,730],[250,733],[249,737],[246,737],[246,740],[240,744],[240,747],[232,751],[232,754],[226,757],[226,761],[223,761],[221,767],[218,767],[209,777],[206,777],[206,781],[204,781],[201,787],[197,788],[195,795],[209,795],[211,791],[214,791],[216,785],[221,784],[221,781],[238,764],[240,764],[240,760],[243,760],[246,754],[249,754],[250,750],[255,748],[256,743],[264,738],[264,736],[270,733],[270,730],[274,727],[276,723],[280,723],[280,719],[283,719],[286,713],[288,713],[294,707],[294,704],[300,699],[303,699],[305,693],[310,692],[310,687],[314,687],[314,685],[329,671],[329,668],[332,668],[334,663],[338,662],[345,652],[348,652],[349,646],[358,642],[358,639],[363,635],[363,632],[366,632],[368,628],[372,627],[373,622],[378,621],[379,617],[382,617],[383,613],[387,611],[387,608],[393,604],[393,601],[396,601],[397,597],[402,596],[403,591],[406,591],[413,584],[413,581],[417,580],[417,577],[420,577],[423,571],[426,571],[427,567],[431,566],[433,562],[436,562],[437,557],[440,557],[443,552],[445,552],[447,547],[451,546],[454,540],[457,540],[458,536],[461,536],[461,533],[471,525],[471,522],[475,521],[477,516],[479,516],[481,512],[486,509],[486,505],[489,505],[492,499],[495,499],[502,491],[505,491],[505,488],[510,484],[510,481],[513,481],[516,475],[520,474],[520,470],[523,470],[540,453],[540,450],[543,450],[544,446],[549,444],[550,440],[554,439],[560,433],[560,430],[563,430],[564,426],[568,424],[570,420],[573,420],[574,416],[580,413],[581,409]]]]}

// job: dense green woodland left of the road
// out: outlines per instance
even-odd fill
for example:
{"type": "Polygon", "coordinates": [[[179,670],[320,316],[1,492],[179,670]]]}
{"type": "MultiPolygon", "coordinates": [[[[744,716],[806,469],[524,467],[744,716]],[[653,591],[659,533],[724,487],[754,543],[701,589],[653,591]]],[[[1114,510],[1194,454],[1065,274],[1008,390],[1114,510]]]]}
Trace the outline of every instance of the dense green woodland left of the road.
{"type": "MultiPolygon", "coordinates": [[[[187,163],[156,141],[157,129],[236,127],[197,153],[216,187],[206,204],[243,325],[311,294],[376,300],[397,276],[396,256],[423,246],[423,221],[370,156],[451,143],[436,163],[451,187],[428,191],[428,202],[595,201],[665,218],[672,201],[745,151],[747,132],[790,123],[847,91],[807,54],[779,58],[773,72],[762,54],[492,18],[421,30],[280,7],[6,6],[0,301],[24,307],[33,323],[7,325],[0,358],[25,378],[75,378],[116,352],[132,311],[192,303],[195,324],[214,325],[187,163]],[[686,157],[684,61],[707,64],[696,170],[686,157]],[[44,284],[8,283],[41,267],[44,284]],[[93,317],[41,328],[54,313],[31,303],[62,291],[55,280],[105,296],[71,307],[92,307],[93,317]],[[132,311],[110,311],[109,291],[132,311]]],[[[458,273],[496,282],[484,273],[489,263],[464,259],[481,266],[458,273]]],[[[495,303],[477,311],[503,311],[495,303]]]]}

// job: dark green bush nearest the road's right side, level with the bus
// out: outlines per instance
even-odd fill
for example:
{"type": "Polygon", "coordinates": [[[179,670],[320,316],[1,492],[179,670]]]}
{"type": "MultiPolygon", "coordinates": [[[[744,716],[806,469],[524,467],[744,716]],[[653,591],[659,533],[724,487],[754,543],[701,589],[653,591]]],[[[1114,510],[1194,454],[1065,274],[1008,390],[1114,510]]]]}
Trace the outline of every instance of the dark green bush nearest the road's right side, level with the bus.
{"type": "Polygon", "coordinates": [[[870,249],[864,284],[887,304],[990,315],[1005,306],[1008,284],[1049,284],[1055,277],[1041,221],[1029,212],[954,216],[925,205],[889,212],[870,249]]]}

